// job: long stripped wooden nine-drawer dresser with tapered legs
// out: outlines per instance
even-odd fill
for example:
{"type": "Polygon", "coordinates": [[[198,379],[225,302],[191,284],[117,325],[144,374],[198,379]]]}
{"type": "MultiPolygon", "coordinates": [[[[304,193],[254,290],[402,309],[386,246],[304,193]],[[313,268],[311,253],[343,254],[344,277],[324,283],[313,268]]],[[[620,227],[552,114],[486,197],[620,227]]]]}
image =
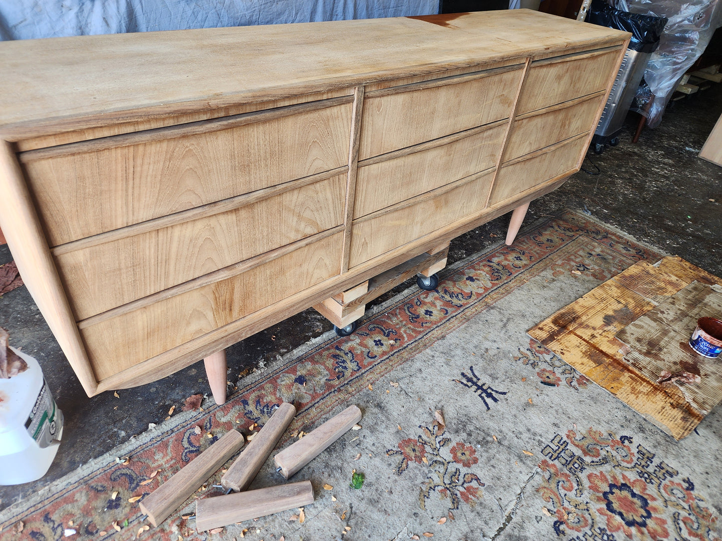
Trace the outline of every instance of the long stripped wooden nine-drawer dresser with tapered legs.
{"type": "Polygon", "coordinates": [[[0,227],[87,394],[152,382],[521,222],[628,37],[522,9],[0,43],[0,227]]]}

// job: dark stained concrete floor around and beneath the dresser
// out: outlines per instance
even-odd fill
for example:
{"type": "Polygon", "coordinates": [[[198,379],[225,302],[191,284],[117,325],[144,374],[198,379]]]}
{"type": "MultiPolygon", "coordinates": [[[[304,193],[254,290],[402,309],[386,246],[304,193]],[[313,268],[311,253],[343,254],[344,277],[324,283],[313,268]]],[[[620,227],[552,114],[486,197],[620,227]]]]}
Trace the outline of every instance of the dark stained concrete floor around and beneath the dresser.
{"type": "MultiPolygon", "coordinates": [[[[589,154],[599,174],[580,171],[532,202],[525,224],[565,208],[583,211],[722,276],[722,167],[697,158],[721,113],[722,84],[716,84],[676,102],[661,126],[645,130],[638,144],[631,143],[638,116],[630,114],[619,146],[589,154]]],[[[589,160],[583,167],[596,171],[589,160]]],[[[448,263],[497,244],[507,225],[508,216],[502,216],[458,237],[451,243],[448,263]]],[[[0,247],[0,264],[9,260],[7,247],[0,247]]],[[[88,398],[25,287],[0,297],[0,326],[9,330],[15,347],[40,361],[66,423],[58,456],[45,477],[0,487],[0,509],[147,430],[148,423],[160,423],[170,406],[180,407],[189,395],[209,392],[203,366],[195,364],[159,382],[121,390],[120,398],[112,392],[88,398]]],[[[227,352],[228,379],[238,381],[259,362],[270,365],[329,330],[331,324],[308,309],[246,338],[227,352]]]]}

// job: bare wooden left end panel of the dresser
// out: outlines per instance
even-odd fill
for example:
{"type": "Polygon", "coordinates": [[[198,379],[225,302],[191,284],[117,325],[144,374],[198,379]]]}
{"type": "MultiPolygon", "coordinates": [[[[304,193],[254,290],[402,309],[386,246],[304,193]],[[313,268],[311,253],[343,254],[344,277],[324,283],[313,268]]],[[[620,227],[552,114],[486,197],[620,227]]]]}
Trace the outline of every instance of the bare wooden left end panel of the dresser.
{"type": "Polygon", "coordinates": [[[83,389],[95,395],[97,381],[74,323],[14,149],[0,140],[0,227],[32,299],[53,331],[83,389]]]}

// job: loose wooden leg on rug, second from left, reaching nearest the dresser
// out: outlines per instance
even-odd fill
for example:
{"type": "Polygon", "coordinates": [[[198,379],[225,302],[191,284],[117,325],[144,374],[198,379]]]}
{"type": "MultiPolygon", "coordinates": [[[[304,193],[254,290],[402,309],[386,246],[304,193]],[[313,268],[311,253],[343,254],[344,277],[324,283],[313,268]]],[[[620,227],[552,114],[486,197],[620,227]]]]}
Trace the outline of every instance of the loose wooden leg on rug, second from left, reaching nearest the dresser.
{"type": "Polygon", "coordinates": [[[295,415],[296,408],[293,404],[284,402],[279,405],[258,434],[253,436],[245,451],[223,474],[221,484],[224,488],[232,488],[235,492],[248,488],[295,415]]]}

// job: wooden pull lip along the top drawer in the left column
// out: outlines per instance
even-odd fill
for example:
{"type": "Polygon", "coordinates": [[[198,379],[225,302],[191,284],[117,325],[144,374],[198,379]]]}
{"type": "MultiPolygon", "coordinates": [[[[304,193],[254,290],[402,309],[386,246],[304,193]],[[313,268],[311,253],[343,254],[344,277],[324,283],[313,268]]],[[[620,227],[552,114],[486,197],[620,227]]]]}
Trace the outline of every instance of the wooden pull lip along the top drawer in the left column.
{"type": "Polygon", "coordinates": [[[90,141],[78,141],[76,143],[48,146],[44,149],[26,150],[24,152],[19,152],[17,157],[21,163],[27,163],[38,159],[57,158],[61,156],[71,156],[72,154],[82,154],[84,152],[118,149],[123,146],[160,141],[161,139],[173,139],[196,135],[199,133],[212,133],[214,131],[229,130],[231,128],[245,126],[247,124],[266,122],[266,120],[275,120],[285,116],[299,115],[301,113],[309,113],[310,111],[326,109],[328,107],[336,107],[337,105],[351,103],[353,100],[353,96],[331,97],[326,100],[318,100],[316,102],[286,105],[285,107],[253,111],[251,113],[241,113],[240,115],[232,115],[222,118],[210,118],[209,120],[196,120],[196,122],[189,122],[186,124],[164,126],[162,128],[152,128],[150,130],[135,131],[131,133],[121,133],[120,135],[100,137],[97,139],[91,139],[90,141]]]}

